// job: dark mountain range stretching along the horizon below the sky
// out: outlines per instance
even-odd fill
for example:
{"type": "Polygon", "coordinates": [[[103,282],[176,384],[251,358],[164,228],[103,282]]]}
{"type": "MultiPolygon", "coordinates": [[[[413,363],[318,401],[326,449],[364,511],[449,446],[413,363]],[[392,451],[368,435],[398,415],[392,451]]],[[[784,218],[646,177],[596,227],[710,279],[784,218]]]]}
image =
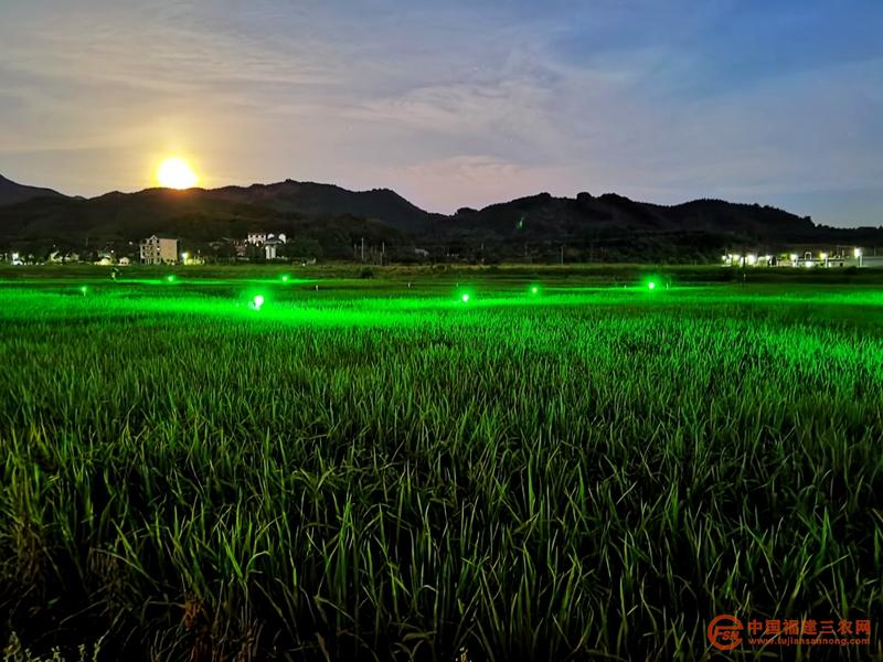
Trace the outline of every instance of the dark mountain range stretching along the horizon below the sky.
{"type": "Polygon", "coordinates": [[[146,189],[68,197],[0,177],[0,246],[119,245],[166,234],[195,246],[283,232],[302,250],[351,257],[364,237],[393,258],[430,254],[538,258],[566,247],[572,259],[716,259],[728,246],[775,250],[811,243],[881,244],[883,229],[816,225],[808,216],[757,204],[695,200],[673,206],[605,193],[540,193],[455,214],[427,212],[394,191],[348,191],[286,180],[221,189],[146,189]],[[308,248],[307,248],[308,247],[308,248]]]}

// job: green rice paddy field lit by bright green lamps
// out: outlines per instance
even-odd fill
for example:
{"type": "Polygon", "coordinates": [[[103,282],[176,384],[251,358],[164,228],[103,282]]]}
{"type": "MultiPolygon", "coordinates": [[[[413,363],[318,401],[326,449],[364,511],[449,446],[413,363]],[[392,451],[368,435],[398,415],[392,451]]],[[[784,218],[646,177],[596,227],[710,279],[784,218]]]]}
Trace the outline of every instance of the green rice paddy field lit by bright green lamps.
{"type": "Polygon", "coordinates": [[[36,271],[0,281],[9,650],[883,655],[883,278],[36,271]],[[871,631],[723,652],[717,615],[871,631]]]}

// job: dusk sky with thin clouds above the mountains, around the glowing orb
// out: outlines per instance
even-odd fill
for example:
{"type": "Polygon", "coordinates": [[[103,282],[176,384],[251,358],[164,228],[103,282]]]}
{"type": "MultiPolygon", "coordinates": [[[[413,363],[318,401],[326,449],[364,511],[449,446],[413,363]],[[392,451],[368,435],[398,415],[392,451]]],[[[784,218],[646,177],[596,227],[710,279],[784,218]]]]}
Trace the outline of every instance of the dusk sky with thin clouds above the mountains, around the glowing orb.
{"type": "Polygon", "coordinates": [[[0,173],[64,193],[720,197],[883,225],[881,0],[0,0],[0,173]]]}

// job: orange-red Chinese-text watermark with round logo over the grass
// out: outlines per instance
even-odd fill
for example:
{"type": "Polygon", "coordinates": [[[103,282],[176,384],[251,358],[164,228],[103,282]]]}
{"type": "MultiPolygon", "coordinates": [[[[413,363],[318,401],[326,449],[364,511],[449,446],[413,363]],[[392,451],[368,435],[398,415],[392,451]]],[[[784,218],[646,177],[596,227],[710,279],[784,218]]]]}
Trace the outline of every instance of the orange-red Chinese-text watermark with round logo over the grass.
{"type": "Polygon", "coordinates": [[[743,622],[730,613],[709,623],[709,643],[721,651],[742,645],[870,645],[869,619],[749,619],[743,622]]]}

